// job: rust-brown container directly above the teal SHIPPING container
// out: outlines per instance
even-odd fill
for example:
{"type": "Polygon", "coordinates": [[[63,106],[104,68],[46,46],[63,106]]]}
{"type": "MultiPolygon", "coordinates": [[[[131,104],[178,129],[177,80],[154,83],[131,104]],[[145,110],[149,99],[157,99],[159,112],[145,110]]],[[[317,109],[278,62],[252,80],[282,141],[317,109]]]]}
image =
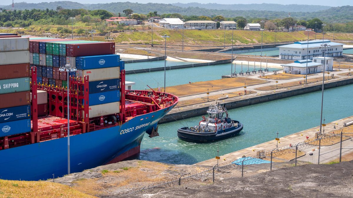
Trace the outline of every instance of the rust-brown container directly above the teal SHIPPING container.
{"type": "Polygon", "coordinates": [[[1,70],[6,71],[6,72],[0,72],[0,80],[29,77],[30,75],[29,63],[5,64],[0,67],[1,67],[1,70]]]}

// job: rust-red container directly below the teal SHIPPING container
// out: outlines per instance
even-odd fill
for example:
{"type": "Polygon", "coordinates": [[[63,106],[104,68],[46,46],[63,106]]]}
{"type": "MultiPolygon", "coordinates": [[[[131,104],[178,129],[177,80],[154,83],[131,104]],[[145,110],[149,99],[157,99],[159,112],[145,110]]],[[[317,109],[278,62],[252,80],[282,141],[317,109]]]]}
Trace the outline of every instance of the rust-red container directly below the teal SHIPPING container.
{"type": "Polygon", "coordinates": [[[0,109],[30,104],[30,92],[0,94],[0,109]]]}

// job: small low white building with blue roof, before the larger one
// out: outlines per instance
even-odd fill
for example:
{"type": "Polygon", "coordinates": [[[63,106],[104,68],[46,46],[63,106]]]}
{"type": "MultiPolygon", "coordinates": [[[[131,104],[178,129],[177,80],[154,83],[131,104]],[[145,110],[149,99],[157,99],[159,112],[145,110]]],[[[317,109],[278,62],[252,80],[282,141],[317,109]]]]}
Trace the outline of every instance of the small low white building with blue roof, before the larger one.
{"type": "Polygon", "coordinates": [[[324,64],[312,62],[311,60],[298,60],[294,63],[282,64],[283,71],[291,74],[306,74],[306,67],[308,74],[321,72],[324,64]]]}

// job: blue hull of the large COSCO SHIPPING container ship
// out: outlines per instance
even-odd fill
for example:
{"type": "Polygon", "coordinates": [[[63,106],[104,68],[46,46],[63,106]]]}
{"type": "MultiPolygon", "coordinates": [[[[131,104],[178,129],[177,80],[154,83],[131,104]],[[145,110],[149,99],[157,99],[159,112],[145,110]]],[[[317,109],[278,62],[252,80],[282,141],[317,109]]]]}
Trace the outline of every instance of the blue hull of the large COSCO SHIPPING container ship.
{"type": "MultiPolygon", "coordinates": [[[[107,129],[70,136],[71,173],[139,153],[145,132],[176,104],[107,129]]],[[[46,180],[67,174],[67,137],[0,150],[0,179],[46,180]]]]}

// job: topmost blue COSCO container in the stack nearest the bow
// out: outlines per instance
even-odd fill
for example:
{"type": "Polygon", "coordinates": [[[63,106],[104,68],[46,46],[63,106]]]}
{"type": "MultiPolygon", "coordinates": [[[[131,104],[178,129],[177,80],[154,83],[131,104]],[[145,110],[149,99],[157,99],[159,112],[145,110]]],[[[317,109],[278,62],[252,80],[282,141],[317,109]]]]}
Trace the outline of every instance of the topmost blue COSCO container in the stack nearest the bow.
{"type": "Polygon", "coordinates": [[[99,69],[118,67],[120,55],[108,54],[99,56],[80,56],[76,58],[77,69],[99,69]]]}

